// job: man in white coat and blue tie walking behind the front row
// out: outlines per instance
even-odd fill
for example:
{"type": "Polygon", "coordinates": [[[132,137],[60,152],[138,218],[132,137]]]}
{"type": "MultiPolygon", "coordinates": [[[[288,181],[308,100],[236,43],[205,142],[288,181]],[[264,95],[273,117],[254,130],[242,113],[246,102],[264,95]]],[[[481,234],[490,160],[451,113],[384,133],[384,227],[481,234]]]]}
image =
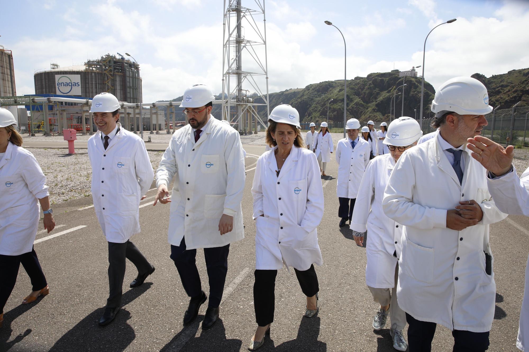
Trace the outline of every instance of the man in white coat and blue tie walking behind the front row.
{"type": "Polygon", "coordinates": [[[350,118],[345,124],[347,137],[336,144],[336,161],[338,162],[338,181],[336,182],[336,196],[340,201],[338,216],[340,227],[353,215],[354,202],[357,198],[358,186],[366,166],[369,163],[371,148],[369,143],[358,136],[360,122],[350,118]]]}

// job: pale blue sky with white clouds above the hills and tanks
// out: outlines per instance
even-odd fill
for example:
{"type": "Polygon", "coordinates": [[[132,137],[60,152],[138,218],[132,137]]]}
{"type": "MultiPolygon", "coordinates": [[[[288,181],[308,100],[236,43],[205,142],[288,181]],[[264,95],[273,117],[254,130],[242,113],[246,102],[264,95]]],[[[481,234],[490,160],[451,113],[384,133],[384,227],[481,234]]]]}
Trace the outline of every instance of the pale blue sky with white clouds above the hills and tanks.
{"type": "MultiPolygon", "coordinates": [[[[117,52],[140,63],[144,102],[175,98],[198,82],[222,89],[222,0],[19,0],[3,12],[0,44],[13,50],[19,95],[34,92],[34,71],[51,61],[66,67],[117,52]]],[[[426,34],[450,18],[458,20],[426,44],[425,79],[434,87],[529,67],[524,1],[268,0],[266,16],[270,92],[343,78],[343,40],[324,20],[345,36],[348,79],[422,64],[426,34]]],[[[252,66],[243,57],[243,68],[252,66]]]]}

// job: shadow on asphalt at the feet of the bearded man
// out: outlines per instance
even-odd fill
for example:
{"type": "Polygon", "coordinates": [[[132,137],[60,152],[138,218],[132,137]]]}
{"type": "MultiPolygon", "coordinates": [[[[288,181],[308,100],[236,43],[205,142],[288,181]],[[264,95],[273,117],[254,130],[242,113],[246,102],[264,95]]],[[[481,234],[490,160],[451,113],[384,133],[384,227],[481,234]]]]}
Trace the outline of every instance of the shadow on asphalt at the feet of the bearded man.
{"type": "Polygon", "coordinates": [[[226,329],[222,319],[218,319],[209,330],[200,330],[200,336],[195,337],[200,322],[204,316],[198,316],[189,326],[185,326],[160,352],[173,350],[192,351],[240,351],[242,341],[239,339],[226,339],[226,329]],[[200,318],[200,319],[199,319],[200,318]],[[184,348],[185,347],[185,348],[184,348]]]}

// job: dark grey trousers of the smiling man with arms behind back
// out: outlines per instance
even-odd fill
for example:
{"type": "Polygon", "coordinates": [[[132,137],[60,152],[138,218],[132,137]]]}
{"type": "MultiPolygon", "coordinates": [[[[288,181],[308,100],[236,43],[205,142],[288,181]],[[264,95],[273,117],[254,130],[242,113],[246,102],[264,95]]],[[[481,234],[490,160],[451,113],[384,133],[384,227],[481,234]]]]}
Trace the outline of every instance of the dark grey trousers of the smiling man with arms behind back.
{"type": "Polygon", "coordinates": [[[145,274],[152,270],[152,265],[130,240],[124,243],[108,242],[108,286],[110,288],[106,300],[106,307],[108,308],[116,308],[121,304],[125,258],[136,266],[138,274],[145,274]]]}

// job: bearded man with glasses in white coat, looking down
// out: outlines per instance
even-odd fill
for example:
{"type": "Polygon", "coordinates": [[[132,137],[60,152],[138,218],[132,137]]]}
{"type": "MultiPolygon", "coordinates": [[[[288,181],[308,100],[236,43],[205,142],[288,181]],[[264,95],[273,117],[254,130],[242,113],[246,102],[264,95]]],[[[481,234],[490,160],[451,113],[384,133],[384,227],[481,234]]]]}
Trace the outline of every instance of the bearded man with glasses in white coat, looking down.
{"type": "Polygon", "coordinates": [[[244,238],[241,200],[244,159],[239,133],[211,115],[215,97],[205,85],[184,92],[180,107],[189,125],[172,135],[156,172],[154,205],[171,202],[169,244],[171,259],[190,297],[184,325],[198,315],[207,297],[195,263],[196,249],[204,248],[209,280],[209,302],[202,329],[218,319],[228,269],[230,243],[244,238]],[[168,186],[174,179],[171,199],[168,186]]]}

